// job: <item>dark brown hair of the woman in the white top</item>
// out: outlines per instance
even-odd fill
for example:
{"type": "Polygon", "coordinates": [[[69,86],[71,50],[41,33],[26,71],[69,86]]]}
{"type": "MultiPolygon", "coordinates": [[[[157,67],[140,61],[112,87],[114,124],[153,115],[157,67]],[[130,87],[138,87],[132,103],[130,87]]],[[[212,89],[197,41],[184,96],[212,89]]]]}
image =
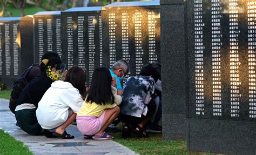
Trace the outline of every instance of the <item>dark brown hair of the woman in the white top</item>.
{"type": "Polygon", "coordinates": [[[82,68],[78,66],[73,66],[68,70],[66,74],[65,82],[69,82],[79,90],[80,95],[84,96],[86,92],[86,73],[83,71],[82,68]]]}

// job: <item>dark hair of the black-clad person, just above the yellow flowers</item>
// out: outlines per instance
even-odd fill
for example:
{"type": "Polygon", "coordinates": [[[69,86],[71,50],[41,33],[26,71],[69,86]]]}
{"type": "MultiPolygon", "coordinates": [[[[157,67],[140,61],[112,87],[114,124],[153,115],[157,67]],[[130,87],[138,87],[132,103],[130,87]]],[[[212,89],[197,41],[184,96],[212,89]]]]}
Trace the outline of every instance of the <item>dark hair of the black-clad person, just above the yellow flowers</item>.
{"type": "Polygon", "coordinates": [[[61,64],[62,64],[62,60],[60,60],[59,57],[51,57],[48,59],[47,64],[44,64],[43,62],[41,62],[40,64],[41,73],[46,74],[45,71],[48,70],[48,66],[51,66],[51,68],[56,68],[56,70],[59,70],[61,64]]]}

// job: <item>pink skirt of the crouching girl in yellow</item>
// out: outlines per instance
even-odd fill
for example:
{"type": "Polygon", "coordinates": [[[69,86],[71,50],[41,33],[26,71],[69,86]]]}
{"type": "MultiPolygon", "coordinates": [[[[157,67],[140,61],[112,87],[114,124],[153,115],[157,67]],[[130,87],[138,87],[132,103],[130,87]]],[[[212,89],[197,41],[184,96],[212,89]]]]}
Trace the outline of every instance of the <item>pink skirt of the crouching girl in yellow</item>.
{"type": "Polygon", "coordinates": [[[92,136],[99,132],[106,110],[99,116],[77,116],[77,128],[82,134],[92,136]]]}

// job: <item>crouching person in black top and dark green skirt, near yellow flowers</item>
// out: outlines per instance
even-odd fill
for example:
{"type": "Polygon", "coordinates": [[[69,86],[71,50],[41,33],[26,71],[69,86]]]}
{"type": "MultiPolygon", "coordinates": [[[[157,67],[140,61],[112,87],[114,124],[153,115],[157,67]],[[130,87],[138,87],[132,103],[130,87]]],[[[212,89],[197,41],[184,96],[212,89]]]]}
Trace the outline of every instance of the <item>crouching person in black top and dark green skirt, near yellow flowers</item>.
{"type": "Polygon", "coordinates": [[[42,60],[40,70],[41,75],[33,78],[23,89],[15,109],[15,117],[21,129],[33,135],[42,134],[42,127],[36,118],[38,102],[51,83],[63,76],[65,68],[59,57],[52,57],[42,60]]]}

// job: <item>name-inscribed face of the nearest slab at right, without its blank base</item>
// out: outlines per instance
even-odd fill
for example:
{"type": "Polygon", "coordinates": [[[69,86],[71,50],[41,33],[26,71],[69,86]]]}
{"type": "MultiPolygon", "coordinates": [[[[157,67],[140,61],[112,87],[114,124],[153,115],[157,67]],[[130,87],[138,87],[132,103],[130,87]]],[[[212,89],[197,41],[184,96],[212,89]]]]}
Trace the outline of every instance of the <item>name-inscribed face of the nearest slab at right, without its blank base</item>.
{"type": "Polygon", "coordinates": [[[190,118],[256,121],[256,2],[188,5],[190,118]]]}

